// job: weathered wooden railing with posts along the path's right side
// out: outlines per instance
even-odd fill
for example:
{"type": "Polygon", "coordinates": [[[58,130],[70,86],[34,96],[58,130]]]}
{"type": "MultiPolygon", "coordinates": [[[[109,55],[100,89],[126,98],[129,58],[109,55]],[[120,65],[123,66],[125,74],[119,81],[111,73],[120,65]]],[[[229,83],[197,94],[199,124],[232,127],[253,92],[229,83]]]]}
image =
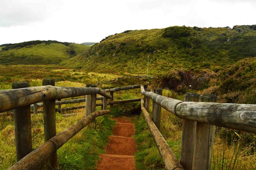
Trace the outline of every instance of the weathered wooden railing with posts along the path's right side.
{"type": "Polygon", "coordinates": [[[180,101],[145,90],[143,86],[141,86],[141,92],[145,97],[145,104],[144,99],[141,104],[143,114],[167,169],[209,170],[215,125],[256,133],[256,105],[254,104],[214,103],[217,101],[217,96],[200,96],[196,93],[187,93],[185,101],[180,101]],[[153,101],[154,123],[151,118],[149,119],[146,110],[149,99],[153,101]],[[158,130],[160,126],[158,128],[155,126],[160,125],[161,109],[158,107],[163,107],[184,119],[180,162],[161,136],[158,130]]]}

